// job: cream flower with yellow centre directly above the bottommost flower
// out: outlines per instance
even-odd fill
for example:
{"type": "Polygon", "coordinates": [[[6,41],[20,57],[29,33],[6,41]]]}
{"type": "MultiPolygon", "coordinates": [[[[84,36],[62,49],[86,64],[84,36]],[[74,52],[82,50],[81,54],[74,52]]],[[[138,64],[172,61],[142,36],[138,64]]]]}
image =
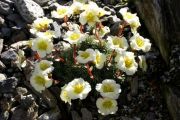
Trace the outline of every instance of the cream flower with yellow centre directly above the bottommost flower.
{"type": "Polygon", "coordinates": [[[102,83],[97,84],[96,90],[100,92],[101,96],[112,99],[118,99],[121,92],[120,85],[112,79],[105,79],[102,83]]]}

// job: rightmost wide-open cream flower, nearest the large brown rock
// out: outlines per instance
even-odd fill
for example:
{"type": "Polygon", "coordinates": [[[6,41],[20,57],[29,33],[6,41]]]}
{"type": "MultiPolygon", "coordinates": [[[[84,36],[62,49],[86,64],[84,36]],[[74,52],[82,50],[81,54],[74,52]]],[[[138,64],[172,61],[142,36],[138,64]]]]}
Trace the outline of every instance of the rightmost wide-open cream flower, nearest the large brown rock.
{"type": "Polygon", "coordinates": [[[148,52],[151,49],[151,43],[149,39],[145,39],[139,35],[139,33],[134,34],[130,38],[131,48],[134,50],[142,50],[143,52],[148,52]]]}

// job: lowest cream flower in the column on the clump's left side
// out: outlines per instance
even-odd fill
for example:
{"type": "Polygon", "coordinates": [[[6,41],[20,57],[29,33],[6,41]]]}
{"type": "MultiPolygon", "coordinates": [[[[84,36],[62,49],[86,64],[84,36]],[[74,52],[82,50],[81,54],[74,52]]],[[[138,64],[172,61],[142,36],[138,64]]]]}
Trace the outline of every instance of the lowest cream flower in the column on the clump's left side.
{"type": "Polygon", "coordinates": [[[30,83],[36,91],[42,92],[52,85],[52,80],[47,75],[36,71],[32,74],[30,83]]]}

